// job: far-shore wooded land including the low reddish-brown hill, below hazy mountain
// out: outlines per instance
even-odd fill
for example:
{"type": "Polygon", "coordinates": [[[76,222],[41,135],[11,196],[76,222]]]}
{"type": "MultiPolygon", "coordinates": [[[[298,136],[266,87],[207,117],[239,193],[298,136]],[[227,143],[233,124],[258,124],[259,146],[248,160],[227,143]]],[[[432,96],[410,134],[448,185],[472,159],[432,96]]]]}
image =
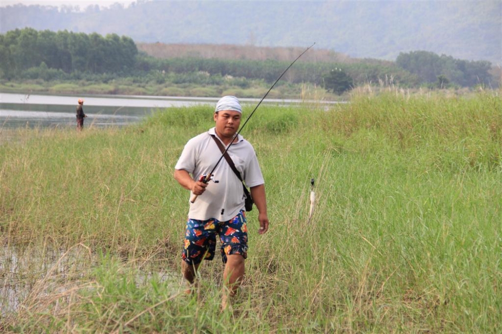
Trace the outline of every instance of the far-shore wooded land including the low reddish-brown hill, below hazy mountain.
{"type": "MultiPolygon", "coordinates": [[[[197,49],[193,46],[176,48],[156,43],[142,44],[145,51],[138,52],[135,42],[127,36],[32,28],[0,34],[0,42],[2,84],[10,80],[90,80],[114,82],[105,92],[124,93],[117,87],[116,80],[120,79],[122,86],[157,86],[150,94],[181,96],[219,94],[224,90],[221,87],[248,89],[250,92],[240,94],[258,95],[254,87],[274,82],[304,50],[202,45],[198,47],[201,52],[196,53],[190,51],[197,49]],[[216,93],[214,89],[187,93],[187,85],[219,88],[216,93]],[[183,90],[165,91],[163,87],[183,90]]],[[[296,91],[304,90],[299,88],[304,84],[338,95],[357,86],[383,82],[402,88],[436,89],[500,85],[487,61],[469,62],[426,51],[401,53],[396,62],[350,59],[327,50],[307,54],[284,76],[290,85],[296,85],[296,91]]]]}

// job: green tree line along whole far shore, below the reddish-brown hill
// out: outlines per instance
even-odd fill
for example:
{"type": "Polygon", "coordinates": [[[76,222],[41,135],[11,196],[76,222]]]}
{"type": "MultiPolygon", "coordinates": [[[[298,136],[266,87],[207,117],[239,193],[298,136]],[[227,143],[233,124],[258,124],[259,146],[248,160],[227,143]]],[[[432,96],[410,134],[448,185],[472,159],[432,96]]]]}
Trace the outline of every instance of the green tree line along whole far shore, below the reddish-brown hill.
{"type": "MultiPolygon", "coordinates": [[[[126,36],[32,28],[0,35],[0,75],[3,79],[108,81],[131,77],[157,83],[218,84],[222,78],[274,82],[289,61],[178,57],[161,59],[139,52],[126,36]]],[[[401,53],[396,62],[362,59],[342,62],[299,61],[284,76],[293,84],[313,83],[341,94],[363,84],[445,88],[487,85],[492,77],[487,61],[464,61],[432,52],[401,53]]],[[[239,80],[237,80],[239,81],[239,80]]]]}

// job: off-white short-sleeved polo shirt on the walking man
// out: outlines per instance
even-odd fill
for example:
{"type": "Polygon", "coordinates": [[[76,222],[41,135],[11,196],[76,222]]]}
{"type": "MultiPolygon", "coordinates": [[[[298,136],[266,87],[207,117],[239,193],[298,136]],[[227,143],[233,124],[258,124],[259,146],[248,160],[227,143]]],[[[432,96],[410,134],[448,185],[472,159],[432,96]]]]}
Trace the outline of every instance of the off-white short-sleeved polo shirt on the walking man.
{"type": "MultiPolygon", "coordinates": [[[[198,180],[202,174],[211,172],[222,155],[211,135],[219,139],[214,127],[190,139],[183,148],[175,169],[187,171],[194,180],[198,180]]],[[[237,142],[230,146],[227,153],[247,187],[265,183],[255,149],[240,134],[237,142]]],[[[221,158],[213,174],[214,180],[218,183],[209,182],[205,192],[198,196],[194,203],[190,203],[188,218],[198,220],[215,218],[227,221],[235,217],[239,210],[244,209],[242,183],[224,157],[221,158]]],[[[192,195],[190,192],[190,197],[192,195]]]]}

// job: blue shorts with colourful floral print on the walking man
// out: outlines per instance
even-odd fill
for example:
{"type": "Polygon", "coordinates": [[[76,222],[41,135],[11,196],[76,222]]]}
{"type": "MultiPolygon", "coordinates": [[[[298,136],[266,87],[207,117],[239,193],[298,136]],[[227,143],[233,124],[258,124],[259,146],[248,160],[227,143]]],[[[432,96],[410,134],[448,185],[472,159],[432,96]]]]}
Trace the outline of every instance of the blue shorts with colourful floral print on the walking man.
{"type": "Polygon", "coordinates": [[[216,250],[216,234],[221,241],[221,260],[226,263],[226,256],[240,254],[247,257],[247,226],[245,212],[226,222],[216,219],[188,219],[185,231],[185,245],[182,259],[188,264],[198,264],[203,259],[212,260],[216,250]]]}

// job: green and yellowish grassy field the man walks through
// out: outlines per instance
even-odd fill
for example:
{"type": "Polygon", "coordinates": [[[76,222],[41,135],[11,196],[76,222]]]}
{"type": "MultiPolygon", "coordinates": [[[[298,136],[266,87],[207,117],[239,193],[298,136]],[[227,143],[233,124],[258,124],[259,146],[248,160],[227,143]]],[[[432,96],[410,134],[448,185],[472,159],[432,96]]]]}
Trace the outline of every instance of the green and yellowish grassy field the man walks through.
{"type": "Polygon", "coordinates": [[[212,106],[121,129],[10,130],[0,331],[500,332],[500,93],[261,106],[242,134],[271,229],[259,236],[248,213],[246,277],[225,313],[219,260],[196,296],[181,293],[188,192],[172,177],[212,106]]]}

